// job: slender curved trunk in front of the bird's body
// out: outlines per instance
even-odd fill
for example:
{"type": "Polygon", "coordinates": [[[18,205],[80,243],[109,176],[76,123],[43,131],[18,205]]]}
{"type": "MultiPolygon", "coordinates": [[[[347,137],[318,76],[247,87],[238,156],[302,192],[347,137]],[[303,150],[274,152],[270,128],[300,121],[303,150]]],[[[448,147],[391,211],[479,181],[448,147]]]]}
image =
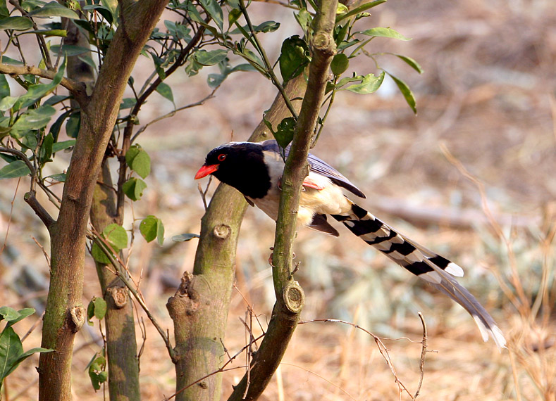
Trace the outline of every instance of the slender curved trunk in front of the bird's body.
{"type": "Polygon", "coordinates": [[[303,290],[292,277],[293,238],[297,227],[302,183],[309,172],[309,146],[323,103],[328,69],[335,55],[332,31],[337,7],[338,0],[323,0],[314,20],[315,34],[311,44],[313,59],[309,64],[307,90],[285,164],[276,222],[272,269],[276,304],[266,336],[251,364],[249,388],[245,375],[228,400],[257,400],[280,364],[303,307],[303,290]]]}

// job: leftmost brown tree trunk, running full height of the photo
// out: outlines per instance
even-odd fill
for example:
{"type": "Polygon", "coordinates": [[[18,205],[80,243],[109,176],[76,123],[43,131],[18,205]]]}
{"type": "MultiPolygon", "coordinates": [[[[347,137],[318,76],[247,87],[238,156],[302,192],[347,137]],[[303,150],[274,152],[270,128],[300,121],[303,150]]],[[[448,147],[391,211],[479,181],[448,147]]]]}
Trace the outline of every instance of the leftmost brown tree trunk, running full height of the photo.
{"type": "Polygon", "coordinates": [[[133,65],[167,1],[121,1],[121,25],[104,58],[92,96],[81,104],[81,127],[50,227],[51,280],[39,358],[39,400],[71,400],[73,338],[85,322],[82,305],[85,233],[92,193],[133,65]]]}

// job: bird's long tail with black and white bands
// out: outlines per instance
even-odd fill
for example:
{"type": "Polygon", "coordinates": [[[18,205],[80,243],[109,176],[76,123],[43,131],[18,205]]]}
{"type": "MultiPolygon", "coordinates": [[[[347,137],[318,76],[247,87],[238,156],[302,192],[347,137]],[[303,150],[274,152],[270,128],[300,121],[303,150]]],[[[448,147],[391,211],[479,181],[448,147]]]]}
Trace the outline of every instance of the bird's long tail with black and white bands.
{"type": "Polygon", "coordinates": [[[460,286],[452,277],[463,276],[464,272],[461,267],[398,234],[356,204],[352,205],[352,210],[348,214],[332,215],[332,217],[342,222],[353,234],[380,250],[398,265],[428,281],[433,287],[438,288],[462,305],[475,319],[484,341],[487,341],[490,335],[499,350],[506,348],[506,339],[493,317],[467,289],[460,286]]]}

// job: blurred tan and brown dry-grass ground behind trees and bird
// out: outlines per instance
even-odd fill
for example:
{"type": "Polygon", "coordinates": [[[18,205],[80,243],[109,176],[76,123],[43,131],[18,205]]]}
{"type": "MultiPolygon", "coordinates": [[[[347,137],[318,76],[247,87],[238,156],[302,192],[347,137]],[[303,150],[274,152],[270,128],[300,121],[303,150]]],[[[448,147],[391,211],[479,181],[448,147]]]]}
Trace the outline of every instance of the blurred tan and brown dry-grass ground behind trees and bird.
{"type": "MultiPolygon", "coordinates": [[[[254,3],[257,23],[273,19],[280,29],[261,35],[271,61],[286,37],[299,34],[292,11],[278,4],[254,3]]],[[[367,199],[360,204],[398,231],[454,260],[465,270],[460,280],[497,320],[509,346],[501,354],[483,343],[473,319],[443,295],[431,291],[373,248],[339,227],[340,238],[299,230],[296,278],[306,293],[302,319],[333,318],[358,324],[385,340],[398,380],[414,394],[419,383],[423,329],[428,349],[422,400],[555,400],[556,300],[554,221],[556,216],[556,3],[530,1],[391,0],[373,8],[360,25],[393,27],[410,42],[377,38],[368,49],[401,53],[419,62],[422,75],[388,54],[378,65],[412,88],[418,115],[388,77],[376,94],[344,91],[336,96],[313,153],[349,177],[367,199]],[[410,340],[408,340],[409,338],[410,340]],[[417,342],[417,343],[415,343],[417,342]]],[[[377,73],[375,62],[357,58],[350,70],[377,73]]],[[[152,62],[137,64],[147,77],[152,62]]],[[[179,72],[165,82],[175,105],[186,106],[211,93],[210,68],[196,77],[179,72]]],[[[140,114],[140,125],[171,112],[154,95],[140,114]]],[[[141,276],[147,304],[172,331],[166,300],[184,271],[191,271],[197,240],[173,243],[171,236],[198,233],[204,213],[194,173],[206,153],[223,142],[247,139],[270,107],[276,91],[256,73],[236,73],[203,106],[180,111],[150,125],[138,143],[153,160],[148,189],[126,212],[154,214],[166,229],[163,247],[137,236],[130,270],[141,276]]],[[[57,155],[51,174],[61,172],[69,155],[57,155]],[[58,157],[59,156],[59,157],[58,157]],[[65,158],[65,159],[64,159],[65,158]],[[58,168],[58,171],[55,171],[58,168]]],[[[44,310],[48,236],[22,201],[27,182],[0,187],[0,256],[4,291],[1,305],[44,310]],[[9,229],[9,232],[8,232],[9,229]],[[36,241],[35,241],[36,240],[36,241]],[[4,239],[3,239],[4,241],[4,239]],[[40,244],[37,245],[37,243],[40,244]]],[[[206,180],[201,182],[206,186],[206,180]]],[[[216,189],[216,180],[209,196],[216,189]]],[[[269,248],[274,223],[249,208],[237,252],[237,283],[229,315],[230,354],[246,341],[241,319],[247,303],[262,327],[274,303],[269,248]]],[[[100,296],[94,263],[86,269],[85,305],[100,296]]],[[[156,330],[138,311],[144,331],[141,380],[144,400],[162,400],[174,391],[173,364],[156,330]]],[[[18,323],[20,335],[32,328],[24,348],[40,344],[39,315],[18,323]]],[[[75,398],[101,400],[85,369],[100,349],[98,326],[82,330],[75,343],[75,398]]],[[[10,400],[37,398],[37,356],[6,381],[10,400]]],[[[233,366],[245,362],[240,357],[233,366]]],[[[242,376],[227,372],[225,396],[242,376]]],[[[261,400],[409,400],[372,337],[352,326],[312,322],[299,326],[276,378],[261,400]]]]}

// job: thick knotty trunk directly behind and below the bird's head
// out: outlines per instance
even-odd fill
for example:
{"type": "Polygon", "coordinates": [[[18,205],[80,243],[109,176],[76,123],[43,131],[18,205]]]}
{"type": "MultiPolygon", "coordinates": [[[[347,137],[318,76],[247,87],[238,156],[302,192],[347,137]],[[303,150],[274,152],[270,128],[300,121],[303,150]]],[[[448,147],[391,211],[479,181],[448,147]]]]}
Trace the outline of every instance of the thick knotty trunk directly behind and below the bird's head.
{"type": "MultiPolygon", "coordinates": [[[[299,98],[305,88],[301,75],[285,89],[290,98],[299,98]]],[[[299,109],[301,102],[293,103],[299,109]]],[[[290,117],[290,111],[278,95],[266,119],[276,126],[285,117],[290,117]]],[[[271,138],[261,122],[249,141],[271,138]]],[[[174,322],[177,401],[220,400],[221,374],[183,389],[226,362],[223,340],[233,288],[237,235],[246,208],[245,199],[235,189],[218,186],[202,218],[194,272],[184,274],[180,288],[166,305],[174,322]]]]}

